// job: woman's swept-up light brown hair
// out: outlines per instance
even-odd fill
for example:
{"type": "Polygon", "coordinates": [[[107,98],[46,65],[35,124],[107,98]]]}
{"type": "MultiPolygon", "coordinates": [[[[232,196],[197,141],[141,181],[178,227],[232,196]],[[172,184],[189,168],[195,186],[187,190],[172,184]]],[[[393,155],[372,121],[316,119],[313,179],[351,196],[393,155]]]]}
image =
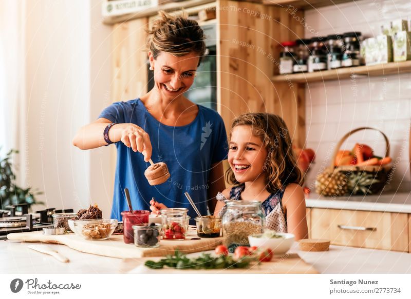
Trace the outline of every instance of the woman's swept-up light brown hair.
{"type": "Polygon", "coordinates": [[[174,16],[159,11],[160,18],[156,19],[151,30],[147,30],[147,47],[154,59],[164,51],[175,56],[196,53],[199,56],[198,65],[206,51],[204,32],[198,23],[183,16],[174,16]]]}

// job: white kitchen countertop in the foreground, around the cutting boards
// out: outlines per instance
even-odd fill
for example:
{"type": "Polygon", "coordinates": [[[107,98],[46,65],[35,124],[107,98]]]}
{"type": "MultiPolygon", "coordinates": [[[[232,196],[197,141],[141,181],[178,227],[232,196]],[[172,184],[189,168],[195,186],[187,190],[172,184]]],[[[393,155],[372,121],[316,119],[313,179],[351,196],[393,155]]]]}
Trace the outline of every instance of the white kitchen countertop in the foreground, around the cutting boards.
{"type": "MultiPolygon", "coordinates": [[[[48,244],[70,259],[64,264],[54,257],[33,251],[27,243],[0,241],[0,273],[142,273],[138,261],[82,253],[65,245],[48,244]],[[137,264],[136,264],[137,263],[137,264]]],[[[325,252],[303,252],[294,243],[290,252],[298,253],[320,273],[411,273],[411,254],[386,250],[330,246],[325,252]]],[[[191,255],[195,255],[193,253],[191,255]]],[[[156,273],[156,272],[154,272],[156,273]]]]}

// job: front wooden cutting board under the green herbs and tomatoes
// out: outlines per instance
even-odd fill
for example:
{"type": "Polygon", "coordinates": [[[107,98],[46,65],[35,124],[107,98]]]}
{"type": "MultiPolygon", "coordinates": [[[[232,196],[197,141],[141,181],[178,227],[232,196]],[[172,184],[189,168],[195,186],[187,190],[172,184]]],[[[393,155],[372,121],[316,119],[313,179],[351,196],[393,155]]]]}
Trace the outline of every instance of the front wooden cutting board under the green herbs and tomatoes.
{"type": "MultiPolygon", "coordinates": [[[[190,255],[191,256],[191,255],[190,255]]],[[[138,258],[124,260],[123,272],[126,273],[157,273],[157,274],[319,274],[312,265],[307,264],[296,253],[288,253],[283,257],[273,258],[271,262],[260,263],[248,269],[215,269],[215,270],[178,270],[172,268],[150,269],[144,266],[147,260],[160,258],[138,258]]]]}

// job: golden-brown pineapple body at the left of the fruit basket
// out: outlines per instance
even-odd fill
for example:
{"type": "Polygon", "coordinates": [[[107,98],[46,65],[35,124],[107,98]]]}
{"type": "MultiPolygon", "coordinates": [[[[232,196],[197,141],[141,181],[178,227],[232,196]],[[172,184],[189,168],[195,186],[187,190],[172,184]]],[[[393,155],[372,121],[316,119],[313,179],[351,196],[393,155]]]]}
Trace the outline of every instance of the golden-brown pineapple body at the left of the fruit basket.
{"type": "Polygon", "coordinates": [[[348,191],[347,182],[345,173],[328,169],[317,176],[315,192],[323,196],[341,196],[348,191]]]}

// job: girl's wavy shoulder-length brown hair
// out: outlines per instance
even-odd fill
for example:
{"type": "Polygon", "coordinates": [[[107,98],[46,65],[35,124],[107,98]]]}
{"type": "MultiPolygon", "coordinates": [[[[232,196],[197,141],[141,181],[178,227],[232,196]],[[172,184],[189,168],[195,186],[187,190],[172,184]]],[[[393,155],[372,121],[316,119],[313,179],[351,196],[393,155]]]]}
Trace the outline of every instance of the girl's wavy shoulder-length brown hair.
{"type": "MultiPolygon", "coordinates": [[[[231,133],[237,126],[250,126],[253,134],[261,138],[268,151],[264,170],[267,175],[267,191],[275,193],[289,183],[302,185],[304,176],[297,167],[297,159],[292,149],[291,137],[283,118],[271,113],[247,113],[236,117],[231,125],[231,133]]],[[[226,171],[226,180],[238,185],[231,168],[226,171]]]]}

